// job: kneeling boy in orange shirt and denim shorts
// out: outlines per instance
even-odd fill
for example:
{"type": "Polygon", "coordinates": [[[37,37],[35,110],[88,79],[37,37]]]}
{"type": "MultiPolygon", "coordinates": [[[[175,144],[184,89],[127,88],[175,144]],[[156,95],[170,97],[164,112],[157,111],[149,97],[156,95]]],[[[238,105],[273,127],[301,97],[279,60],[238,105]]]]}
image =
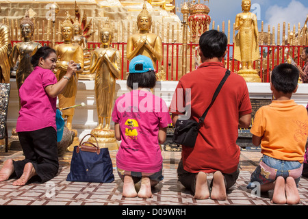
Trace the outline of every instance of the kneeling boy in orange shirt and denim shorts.
{"type": "Polygon", "coordinates": [[[298,69],[291,64],[274,68],[270,83],[274,100],[257,111],[251,127],[253,144],[261,144],[263,157],[247,188],[253,189],[257,182],[261,192],[274,190],[272,203],[277,204],[300,202],[297,187],[303,171],[308,116],[303,105],[291,100],[298,76],[298,69]]]}

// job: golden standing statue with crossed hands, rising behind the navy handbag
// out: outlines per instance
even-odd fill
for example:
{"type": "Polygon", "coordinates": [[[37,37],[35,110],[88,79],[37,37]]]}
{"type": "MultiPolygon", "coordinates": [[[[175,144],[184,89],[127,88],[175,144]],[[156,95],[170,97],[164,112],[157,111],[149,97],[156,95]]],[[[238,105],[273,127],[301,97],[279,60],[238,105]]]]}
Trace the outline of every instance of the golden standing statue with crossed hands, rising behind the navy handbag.
{"type": "MultiPolygon", "coordinates": [[[[121,74],[120,51],[110,47],[113,30],[109,27],[101,29],[101,48],[95,49],[91,56],[90,72],[95,75],[95,96],[99,125],[91,131],[97,138],[100,147],[110,150],[118,149],[118,142],[114,138],[114,130],[110,129],[112,106],[116,90],[116,78],[121,74]],[[105,126],[103,125],[105,119],[105,126]]],[[[90,142],[95,142],[92,137],[90,142]]]]}

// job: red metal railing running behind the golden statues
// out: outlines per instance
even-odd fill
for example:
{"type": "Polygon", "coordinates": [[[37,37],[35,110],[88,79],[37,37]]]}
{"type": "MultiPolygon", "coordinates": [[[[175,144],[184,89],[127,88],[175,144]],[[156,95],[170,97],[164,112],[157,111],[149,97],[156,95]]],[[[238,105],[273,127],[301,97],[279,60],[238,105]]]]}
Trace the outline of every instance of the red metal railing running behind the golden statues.
{"type": "MultiPolygon", "coordinates": [[[[16,40],[12,40],[12,45],[14,45],[16,40]]],[[[50,46],[50,41],[38,41],[42,45],[50,46]]],[[[60,44],[62,42],[55,42],[56,44],[60,44]]],[[[99,48],[101,45],[100,42],[88,42],[88,51],[93,51],[93,49],[99,48]]],[[[127,42],[112,42],[112,47],[118,49],[120,51],[121,57],[121,77],[120,79],[126,79],[126,75],[129,69],[129,60],[126,57],[126,46],[127,42]]],[[[182,43],[172,42],[172,43],[163,43],[163,51],[164,51],[164,59],[161,63],[156,63],[156,70],[159,71],[163,66],[164,72],[166,73],[167,81],[178,81],[183,73],[182,70],[182,43]]],[[[196,47],[198,44],[188,43],[187,50],[187,70],[188,72],[195,69],[195,61],[198,58],[198,54],[196,51],[196,47]]],[[[287,61],[289,57],[292,57],[294,62],[302,67],[304,62],[300,60],[300,52],[305,46],[291,46],[288,45],[259,45],[260,58],[258,61],[255,61],[253,66],[258,70],[259,76],[262,82],[270,81],[270,72],[274,66],[278,64],[284,63],[287,61]],[[285,53],[285,50],[288,50],[288,53],[285,53]],[[279,51],[279,52],[278,52],[279,51]],[[286,55],[285,55],[286,54],[286,55]]],[[[224,57],[224,65],[229,70],[237,73],[240,70],[240,62],[237,60],[233,60],[234,57],[234,43],[228,44],[227,49],[228,53],[226,57],[224,57]]],[[[200,61],[199,61],[200,62],[200,61]]]]}

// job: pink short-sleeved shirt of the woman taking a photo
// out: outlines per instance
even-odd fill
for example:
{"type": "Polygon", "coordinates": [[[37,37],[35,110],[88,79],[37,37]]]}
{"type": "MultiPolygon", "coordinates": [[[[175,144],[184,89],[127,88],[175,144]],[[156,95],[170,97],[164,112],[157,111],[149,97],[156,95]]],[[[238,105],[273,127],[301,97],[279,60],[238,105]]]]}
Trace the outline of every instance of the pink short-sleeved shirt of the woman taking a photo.
{"type": "Polygon", "coordinates": [[[21,110],[16,131],[34,131],[55,125],[57,98],[51,98],[45,88],[57,83],[57,78],[49,69],[36,66],[19,89],[21,110]]]}

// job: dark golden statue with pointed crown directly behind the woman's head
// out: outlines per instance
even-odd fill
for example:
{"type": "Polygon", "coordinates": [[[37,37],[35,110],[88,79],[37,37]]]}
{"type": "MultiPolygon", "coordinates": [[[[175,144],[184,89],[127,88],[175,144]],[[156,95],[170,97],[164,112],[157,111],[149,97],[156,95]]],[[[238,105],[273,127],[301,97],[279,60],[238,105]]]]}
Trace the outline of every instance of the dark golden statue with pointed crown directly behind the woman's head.
{"type": "MultiPolygon", "coordinates": [[[[25,14],[23,20],[21,20],[21,36],[22,42],[14,44],[12,52],[10,53],[9,60],[10,66],[14,67],[16,62],[19,61],[18,68],[16,70],[16,84],[17,90],[23,85],[25,79],[30,75],[33,70],[31,65],[31,56],[42,47],[38,42],[31,41],[32,34],[34,33],[34,22],[29,18],[29,13],[25,14]]],[[[19,96],[19,95],[18,95],[19,96]]],[[[19,100],[19,108],[20,100],[19,100]]]]}

